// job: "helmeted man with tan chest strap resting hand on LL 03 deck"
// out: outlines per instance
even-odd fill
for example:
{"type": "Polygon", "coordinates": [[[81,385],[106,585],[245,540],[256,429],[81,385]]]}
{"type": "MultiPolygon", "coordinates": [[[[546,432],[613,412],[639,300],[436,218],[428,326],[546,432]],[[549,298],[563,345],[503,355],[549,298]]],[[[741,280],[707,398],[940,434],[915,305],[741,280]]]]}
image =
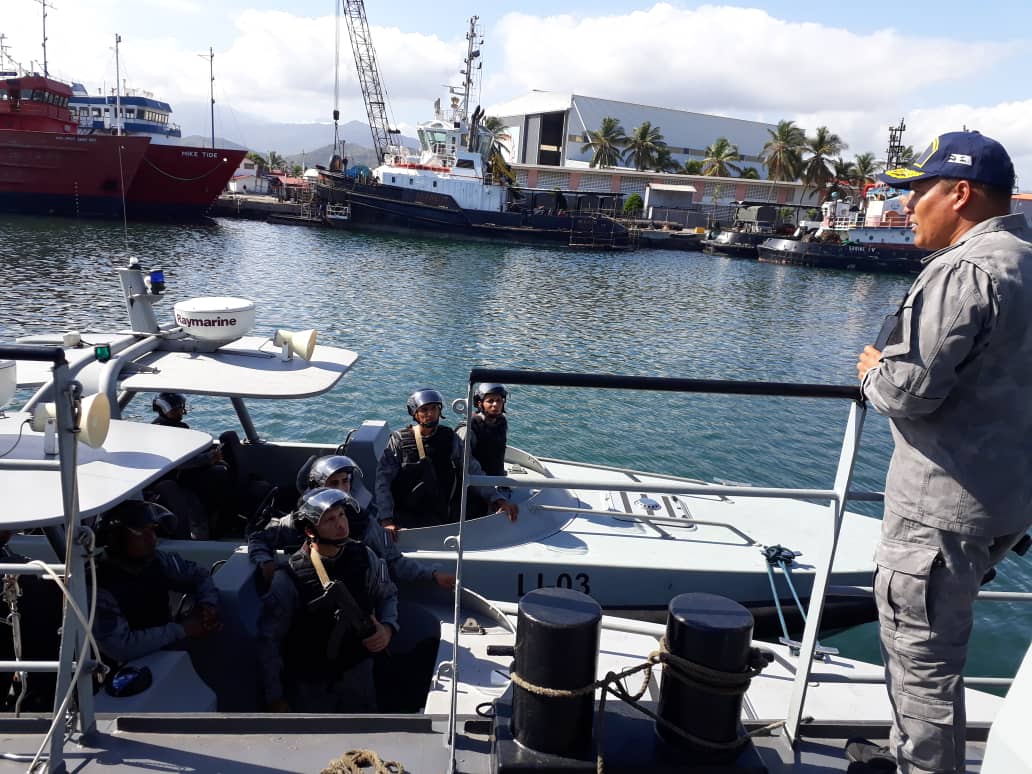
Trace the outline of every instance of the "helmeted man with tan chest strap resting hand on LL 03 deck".
{"type": "MultiPolygon", "coordinates": [[[[417,390],[406,404],[415,425],[391,433],[377,465],[380,522],[396,539],[398,527],[447,524],[458,519],[458,484],[462,442],[441,424],[444,397],[437,390],[417,390]]],[[[470,472],[482,475],[476,458],[470,472]]],[[[479,494],[491,507],[515,519],[518,509],[491,487],[479,494]]]]}

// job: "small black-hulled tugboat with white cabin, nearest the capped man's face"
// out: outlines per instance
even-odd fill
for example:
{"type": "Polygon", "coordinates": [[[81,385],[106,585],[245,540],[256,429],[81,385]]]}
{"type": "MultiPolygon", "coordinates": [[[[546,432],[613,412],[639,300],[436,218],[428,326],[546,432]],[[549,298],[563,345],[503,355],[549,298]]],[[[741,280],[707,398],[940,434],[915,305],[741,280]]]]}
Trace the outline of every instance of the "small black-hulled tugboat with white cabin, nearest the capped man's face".
{"type": "Polygon", "coordinates": [[[821,204],[819,224],[803,224],[796,239],[769,238],[760,247],[760,260],[799,266],[918,273],[930,251],[913,244],[904,212],[906,192],[885,186],[868,190],[858,208],[849,201],[821,204]]]}

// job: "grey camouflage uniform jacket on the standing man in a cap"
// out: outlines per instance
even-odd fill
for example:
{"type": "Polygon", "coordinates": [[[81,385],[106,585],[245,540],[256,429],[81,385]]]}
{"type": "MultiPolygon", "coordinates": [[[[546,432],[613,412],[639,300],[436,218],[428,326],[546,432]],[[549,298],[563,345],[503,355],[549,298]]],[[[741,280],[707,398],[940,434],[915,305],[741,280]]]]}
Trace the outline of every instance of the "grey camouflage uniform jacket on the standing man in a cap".
{"type": "Polygon", "coordinates": [[[998,537],[1032,521],[1032,230],[992,218],[926,261],[864,395],[892,420],[885,510],[998,537]]]}

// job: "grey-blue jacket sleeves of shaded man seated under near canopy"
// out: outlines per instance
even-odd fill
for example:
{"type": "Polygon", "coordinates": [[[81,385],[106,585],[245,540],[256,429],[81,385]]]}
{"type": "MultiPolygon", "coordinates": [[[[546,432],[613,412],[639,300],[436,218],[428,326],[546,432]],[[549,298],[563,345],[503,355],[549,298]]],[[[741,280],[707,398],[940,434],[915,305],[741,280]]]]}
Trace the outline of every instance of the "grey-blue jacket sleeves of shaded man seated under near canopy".
{"type": "MultiPolygon", "coordinates": [[[[169,589],[191,594],[198,605],[219,606],[219,591],[206,570],[174,552],[155,551],[154,561],[158,562],[169,589]]],[[[187,633],[183,624],[175,621],[150,628],[129,628],[129,621],[115,595],[100,586],[97,589],[93,636],[100,649],[121,664],[179,642],[186,638],[187,633]]]]}

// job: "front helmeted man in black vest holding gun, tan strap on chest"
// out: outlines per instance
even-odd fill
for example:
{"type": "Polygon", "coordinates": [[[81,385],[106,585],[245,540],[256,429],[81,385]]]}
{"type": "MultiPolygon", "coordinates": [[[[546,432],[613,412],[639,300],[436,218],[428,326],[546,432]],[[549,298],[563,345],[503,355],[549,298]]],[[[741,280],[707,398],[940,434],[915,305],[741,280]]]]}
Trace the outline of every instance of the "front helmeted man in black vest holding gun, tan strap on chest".
{"type": "Polygon", "coordinates": [[[305,492],[294,523],[307,542],[263,598],[258,648],[272,712],[376,711],[373,654],[397,631],[397,589],[373,551],[350,540],[350,494],[305,492]]]}

